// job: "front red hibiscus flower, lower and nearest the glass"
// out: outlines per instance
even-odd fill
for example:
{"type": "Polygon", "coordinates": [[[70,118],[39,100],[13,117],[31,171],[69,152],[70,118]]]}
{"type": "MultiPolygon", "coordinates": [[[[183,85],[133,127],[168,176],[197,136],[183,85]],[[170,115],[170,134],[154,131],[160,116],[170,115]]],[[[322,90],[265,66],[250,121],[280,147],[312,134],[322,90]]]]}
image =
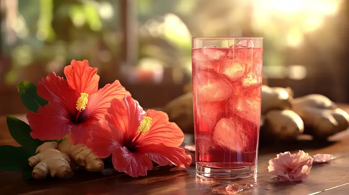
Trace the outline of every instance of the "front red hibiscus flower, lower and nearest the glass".
{"type": "Polygon", "coordinates": [[[114,99],[106,120],[91,127],[87,146],[99,157],[113,154],[114,168],[132,177],[146,176],[156,162],[160,166],[191,164],[191,156],[179,148],[184,134],[165,112],[144,112],[131,97],[114,99]]]}

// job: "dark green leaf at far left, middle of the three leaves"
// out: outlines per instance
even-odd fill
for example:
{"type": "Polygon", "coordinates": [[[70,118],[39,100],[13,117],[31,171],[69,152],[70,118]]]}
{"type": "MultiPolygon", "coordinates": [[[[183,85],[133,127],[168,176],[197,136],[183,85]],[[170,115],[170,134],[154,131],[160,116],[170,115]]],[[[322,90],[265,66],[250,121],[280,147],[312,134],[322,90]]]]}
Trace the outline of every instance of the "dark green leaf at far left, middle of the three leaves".
{"type": "Polygon", "coordinates": [[[30,126],[22,120],[13,116],[6,116],[6,122],[12,138],[24,148],[36,150],[37,147],[45,142],[33,139],[30,136],[30,126]]]}

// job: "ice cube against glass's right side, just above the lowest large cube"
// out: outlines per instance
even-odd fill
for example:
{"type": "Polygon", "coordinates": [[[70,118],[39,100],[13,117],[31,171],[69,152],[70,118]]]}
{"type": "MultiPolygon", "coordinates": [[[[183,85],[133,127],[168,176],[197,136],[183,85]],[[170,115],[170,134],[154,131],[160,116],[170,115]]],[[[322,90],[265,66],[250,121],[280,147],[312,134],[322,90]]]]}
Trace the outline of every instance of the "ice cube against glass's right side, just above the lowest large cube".
{"type": "Polygon", "coordinates": [[[239,95],[228,99],[230,116],[239,116],[254,124],[260,122],[261,92],[260,87],[240,88],[239,95]]]}

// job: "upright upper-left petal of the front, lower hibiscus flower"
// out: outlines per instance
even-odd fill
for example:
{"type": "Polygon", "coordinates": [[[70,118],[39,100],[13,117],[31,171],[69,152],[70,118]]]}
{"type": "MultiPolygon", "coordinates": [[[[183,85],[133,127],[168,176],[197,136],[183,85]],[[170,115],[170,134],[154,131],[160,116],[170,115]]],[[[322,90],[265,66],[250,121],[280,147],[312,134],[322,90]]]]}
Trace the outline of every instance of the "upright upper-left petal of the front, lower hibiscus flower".
{"type": "Polygon", "coordinates": [[[121,134],[124,135],[125,142],[132,141],[144,115],[143,108],[139,106],[138,101],[131,96],[127,96],[121,101],[113,99],[107,111],[105,119],[120,130],[121,134]]]}

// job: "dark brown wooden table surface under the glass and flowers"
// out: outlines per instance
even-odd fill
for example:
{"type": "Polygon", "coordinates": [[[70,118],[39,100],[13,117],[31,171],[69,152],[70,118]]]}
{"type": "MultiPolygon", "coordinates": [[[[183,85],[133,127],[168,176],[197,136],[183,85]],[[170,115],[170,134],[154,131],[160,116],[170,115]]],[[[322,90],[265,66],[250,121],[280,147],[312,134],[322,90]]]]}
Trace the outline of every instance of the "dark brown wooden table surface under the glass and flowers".
{"type": "MultiPolygon", "coordinates": [[[[349,107],[345,107],[347,111],[349,107]]],[[[21,118],[23,119],[23,118],[21,118]]],[[[6,119],[0,117],[0,145],[18,145],[9,137],[6,119]]],[[[0,195],[7,194],[215,194],[216,189],[233,183],[236,185],[252,184],[251,189],[238,194],[296,194],[337,195],[349,194],[349,157],[335,159],[328,164],[313,164],[310,177],[301,182],[280,182],[272,180],[268,174],[268,161],[277,153],[302,149],[310,155],[318,153],[333,154],[336,157],[349,154],[349,131],[333,136],[333,142],[294,141],[289,143],[263,144],[259,149],[257,178],[229,181],[201,179],[195,176],[195,167],[188,171],[169,171],[171,167],[160,167],[148,171],[148,176],[132,178],[113,169],[102,173],[89,173],[77,170],[73,178],[62,180],[22,180],[20,173],[0,171],[0,195]],[[323,192],[322,192],[323,191],[323,192]]],[[[260,140],[261,143],[266,143],[260,140]]]]}

